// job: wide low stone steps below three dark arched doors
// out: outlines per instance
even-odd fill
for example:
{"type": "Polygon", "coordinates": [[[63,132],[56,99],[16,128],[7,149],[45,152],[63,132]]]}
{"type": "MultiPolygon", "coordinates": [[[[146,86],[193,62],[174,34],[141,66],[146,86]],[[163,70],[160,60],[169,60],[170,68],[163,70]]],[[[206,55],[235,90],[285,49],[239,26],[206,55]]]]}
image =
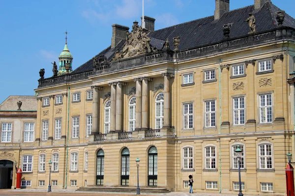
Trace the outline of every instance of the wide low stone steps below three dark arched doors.
{"type": "MultiPolygon", "coordinates": [[[[136,187],[102,187],[102,186],[94,186],[94,187],[80,187],[76,191],[96,191],[96,192],[133,192],[136,193],[136,187]]],[[[140,187],[141,193],[170,193],[170,191],[166,188],[157,188],[157,187],[140,187]]]]}

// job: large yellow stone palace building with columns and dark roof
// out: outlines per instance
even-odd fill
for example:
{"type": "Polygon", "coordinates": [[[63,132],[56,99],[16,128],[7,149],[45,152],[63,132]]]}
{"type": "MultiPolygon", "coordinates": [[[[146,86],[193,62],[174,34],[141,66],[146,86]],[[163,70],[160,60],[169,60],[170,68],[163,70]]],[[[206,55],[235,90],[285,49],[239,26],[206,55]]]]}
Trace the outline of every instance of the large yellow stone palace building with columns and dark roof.
{"type": "Polygon", "coordinates": [[[158,30],[148,16],[114,24],[111,45],[73,71],[66,43],[58,74],[40,70],[33,139],[6,137],[0,153],[14,155],[27,188],[47,188],[51,160],[52,189],[135,190],[138,157],[141,189],[188,191],[191,174],[194,192],[227,194],[238,191],[239,145],[243,193],[284,196],[295,19],[253,3],[215,0],[213,16],[158,30]]]}

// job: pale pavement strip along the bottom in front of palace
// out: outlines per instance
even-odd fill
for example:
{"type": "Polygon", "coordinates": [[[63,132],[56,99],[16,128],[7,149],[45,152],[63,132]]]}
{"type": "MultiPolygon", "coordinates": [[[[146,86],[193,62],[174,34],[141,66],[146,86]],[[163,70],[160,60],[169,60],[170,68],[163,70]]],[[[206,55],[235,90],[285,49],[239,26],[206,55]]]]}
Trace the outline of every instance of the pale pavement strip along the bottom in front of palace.
{"type": "MultiPolygon", "coordinates": [[[[161,194],[149,194],[141,193],[143,196],[237,196],[226,195],[226,194],[214,194],[214,193],[185,193],[185,192],[171,192],[171,193],[161,193],[161,194]]],[[[11,189],[0,189],[0,196],[134,196],[136,193],[115,193],[115,192],[77,192],[75,190],[52,190],[51,193],[47,193],[44,189],[21,189],[21,190],[11,190],[11,189]]],[[[244,195],[252,196],[252,195],[244,195]]],[[[264,195],[267,196],[267,195],[264,195]]]]}

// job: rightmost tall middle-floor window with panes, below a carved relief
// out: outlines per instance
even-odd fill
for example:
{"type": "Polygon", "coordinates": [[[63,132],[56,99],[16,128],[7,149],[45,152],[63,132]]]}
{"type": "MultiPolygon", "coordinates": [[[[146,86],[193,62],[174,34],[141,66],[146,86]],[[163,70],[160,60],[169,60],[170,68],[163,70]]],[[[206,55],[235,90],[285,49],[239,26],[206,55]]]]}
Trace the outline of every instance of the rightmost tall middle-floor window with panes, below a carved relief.
{"type": "Polygon", "coordinates": [[[271,94],[265,94],[259,96],[259,111],[260,122],[272,122],[272,97],[271,94]]]}

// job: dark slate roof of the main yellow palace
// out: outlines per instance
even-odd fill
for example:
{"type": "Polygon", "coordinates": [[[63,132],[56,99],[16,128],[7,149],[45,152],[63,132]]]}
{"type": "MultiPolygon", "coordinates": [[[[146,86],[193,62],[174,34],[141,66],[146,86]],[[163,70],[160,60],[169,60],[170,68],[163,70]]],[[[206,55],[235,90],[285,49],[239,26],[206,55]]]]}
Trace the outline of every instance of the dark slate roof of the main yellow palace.
{"type": "MultiPolygon", "coordinates": [[[[214,16],[209,16],[168,28],[155,30],[150,32],[148,36],[151,39],[150,44],[157,49],[161,49],[164,40],[168,38],[170,48],[173,50],[173,37],[176,36],[180,37],[180,44],[178,46],[179,50],[197,48],[224,40],[223,25],[228,23],[233,23],[229,38],[237,38],[247,35],[250,29],[245,20],[249,17],[249,13],[253,13],[256,19],[257,33],[277,28],[278,25],[275,19],[276,11],[281,11],[281,9],[272,4],[272,2],[266,1],[262,8],[257,12],[255,12],[254,5],[250,5],[226,12],[218,21],[214,21],[214,16]]],[[[286,13],[282,26],[295,28],[295,19],[286,13]]],[[[124,43],[125,40],[122,40],[115,48],[109,46],[97,56],[105,55],[108,60],[111,60],[117,49],[122,50],[124,43]]],[[[92,62],[93,58],[78,67],[72,73],[91,71],[92,62]]]]}

